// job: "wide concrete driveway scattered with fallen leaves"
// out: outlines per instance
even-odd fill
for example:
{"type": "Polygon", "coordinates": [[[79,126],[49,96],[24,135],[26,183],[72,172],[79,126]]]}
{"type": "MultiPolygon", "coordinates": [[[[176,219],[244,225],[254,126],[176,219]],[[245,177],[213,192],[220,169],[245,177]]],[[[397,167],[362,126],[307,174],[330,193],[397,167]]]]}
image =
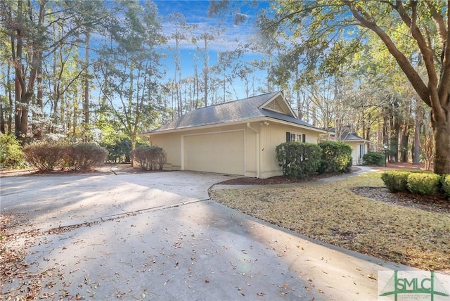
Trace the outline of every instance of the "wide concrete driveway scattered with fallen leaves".
{"type": "MultiPolygon", "coordinates": [[[[377,300],[396,266],[210,200],[220,174],[160,172],[1,179],[5,248],[27,246],[7,297],[50,300],[377,300]]],[[[407,268],[407,267],[406,267],[407,268]]],[[[399,269],[399,267],[397,267],[399,269]]]]}

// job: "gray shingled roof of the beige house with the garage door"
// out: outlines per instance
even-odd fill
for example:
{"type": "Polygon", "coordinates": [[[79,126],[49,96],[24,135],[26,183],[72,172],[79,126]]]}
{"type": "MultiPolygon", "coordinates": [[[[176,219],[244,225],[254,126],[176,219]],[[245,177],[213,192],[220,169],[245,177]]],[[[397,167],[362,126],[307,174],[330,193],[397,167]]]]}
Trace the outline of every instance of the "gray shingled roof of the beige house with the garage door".
{"type": "Polygon", "coordinates": [[[240,121],[250,121],[259,117],[271,117],[285,122],[292,122],[304,127],[316,127],[303,122],[297,118],[277,113],[272,110],[259,108],[261,105],[270,101],[280,92],[272,92],[249,98],[243,98],[237,101],[230,101],[228,103],[221,103],[218,105],[210,105],[205,108],[198,108],[191,110],[185,115],[179,117],[168,124],[162,125],[158,129],[153,129],[149,133],[165,132],[174,129],[188,129],[191,127],[201,127],[211,124],[231,123],[240,121]]]}

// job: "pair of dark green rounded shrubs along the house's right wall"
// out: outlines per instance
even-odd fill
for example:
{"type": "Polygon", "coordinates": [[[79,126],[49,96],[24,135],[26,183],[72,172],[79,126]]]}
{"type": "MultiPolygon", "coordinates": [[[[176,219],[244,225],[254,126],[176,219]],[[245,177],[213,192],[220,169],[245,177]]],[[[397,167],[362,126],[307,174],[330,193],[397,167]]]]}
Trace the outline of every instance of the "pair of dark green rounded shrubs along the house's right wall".
{"type": "Polygon", "coordinates": [[[276,159],[288,178],[307,179],[324,172],[348,172],[352,148],[345,143],[285,142],[276,146],[276,159]]]}

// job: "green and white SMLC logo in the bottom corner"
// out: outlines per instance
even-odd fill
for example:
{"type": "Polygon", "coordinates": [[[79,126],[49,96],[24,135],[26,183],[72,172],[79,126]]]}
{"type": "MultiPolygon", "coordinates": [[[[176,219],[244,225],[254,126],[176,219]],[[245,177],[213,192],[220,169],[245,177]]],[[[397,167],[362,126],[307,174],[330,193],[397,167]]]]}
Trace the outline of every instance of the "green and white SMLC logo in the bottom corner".
{"type": "MultiPolygon", "coordinates": [[[[379,272],[382,273],[383,271],[379,272]]],[[[397,301],[399,297],[401,300],[421,300],[428,299],[435,300],[435,297],[440,296],[439,300],[450,300],[450,295],[447,293],[444,285],[437,278],[434,271],[429,272],[430,275],[425,275],[423,271],[394,271],[394,274],[387,281],[386,285],[378,290],[379,297],[393,296],[397,301]]],[[[380,276],[378,276],[380,280],[380,276]]],[[[378,300],[383,300],[379,298],[378,300]]]]}

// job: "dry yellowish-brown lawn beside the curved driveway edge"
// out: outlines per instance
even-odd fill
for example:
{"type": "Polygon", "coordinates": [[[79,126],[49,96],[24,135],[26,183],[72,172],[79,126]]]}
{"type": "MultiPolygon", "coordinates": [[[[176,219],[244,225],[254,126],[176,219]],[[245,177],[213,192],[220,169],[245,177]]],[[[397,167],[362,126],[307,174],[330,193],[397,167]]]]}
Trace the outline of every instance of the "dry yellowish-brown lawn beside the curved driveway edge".
{"type": "Polygon", "coordinates": [[[327,184],[210,191],[213,200],[266,222],[384,260],[450,269],[450,214],[372,200],[355,187],[382,187],[380,173],[327,184]]]}

